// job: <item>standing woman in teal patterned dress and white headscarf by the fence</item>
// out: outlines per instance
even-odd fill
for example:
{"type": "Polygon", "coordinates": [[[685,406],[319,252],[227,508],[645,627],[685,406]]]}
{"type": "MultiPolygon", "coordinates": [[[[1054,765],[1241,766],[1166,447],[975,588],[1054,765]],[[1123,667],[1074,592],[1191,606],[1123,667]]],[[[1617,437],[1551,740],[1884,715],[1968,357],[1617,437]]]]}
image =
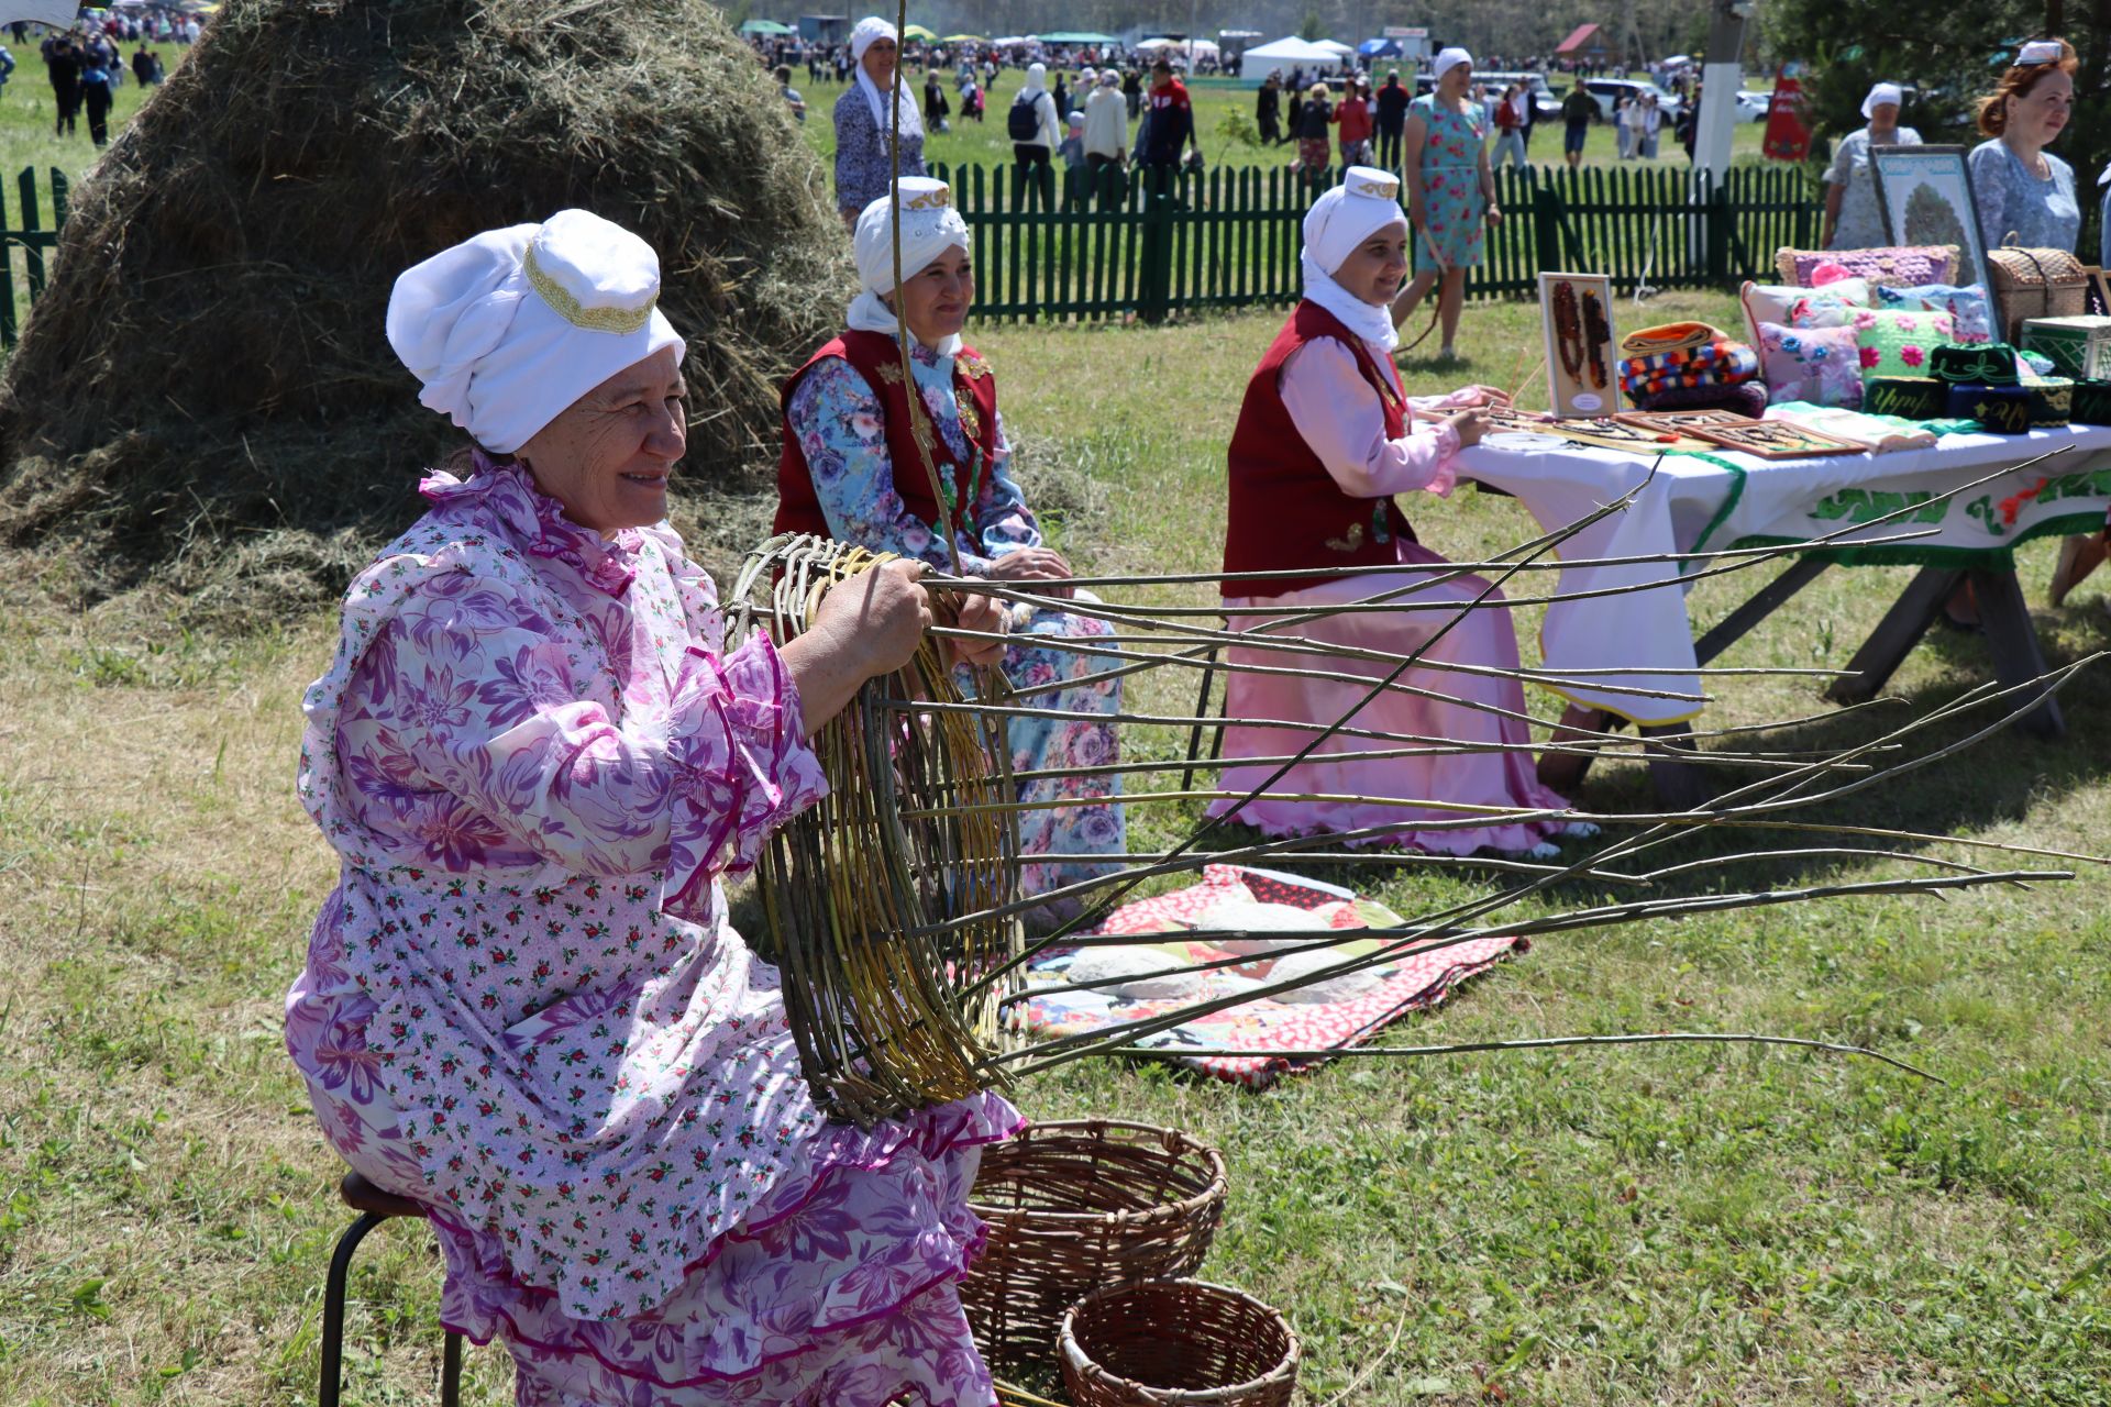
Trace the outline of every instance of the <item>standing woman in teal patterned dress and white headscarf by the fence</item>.
{"type": "Polygon", "coordinates": [[[1488,112],[1473,97],[1473,55],[1446,49],[1431,65],[1435,93],[1408,103],[1408,224],[1414,226],[1414,278],[1393,300],[1393,327],[1404,325],[1429,289],[1438,293],[1444,350],[1457,356],[1465,270],[1482,259],[1490,224],[1503,224],[1488,169],[1488,112]]]}

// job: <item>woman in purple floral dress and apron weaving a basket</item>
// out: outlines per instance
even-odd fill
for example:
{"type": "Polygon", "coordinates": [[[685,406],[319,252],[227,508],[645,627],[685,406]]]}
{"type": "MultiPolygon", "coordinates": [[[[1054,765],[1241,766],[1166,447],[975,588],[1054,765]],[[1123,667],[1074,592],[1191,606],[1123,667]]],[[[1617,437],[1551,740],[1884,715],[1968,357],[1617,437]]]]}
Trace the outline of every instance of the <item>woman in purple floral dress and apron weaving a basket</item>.
{"type": "Polygon", "coordinates": [[[923,565],[720,654],[663,521],[657,295],[652,249],[585,211],[397,281],[388,340],[477,449],[353,580],[306,696],[342,878],[287,1046],[344,1160],[429,1207],[441,1316],[507,1342],[519,1403],[986,1405],[954,1280],[1020,1116],[825,1124],[720,890],[825,791],[809,732],[914,652],[923,565]]]}

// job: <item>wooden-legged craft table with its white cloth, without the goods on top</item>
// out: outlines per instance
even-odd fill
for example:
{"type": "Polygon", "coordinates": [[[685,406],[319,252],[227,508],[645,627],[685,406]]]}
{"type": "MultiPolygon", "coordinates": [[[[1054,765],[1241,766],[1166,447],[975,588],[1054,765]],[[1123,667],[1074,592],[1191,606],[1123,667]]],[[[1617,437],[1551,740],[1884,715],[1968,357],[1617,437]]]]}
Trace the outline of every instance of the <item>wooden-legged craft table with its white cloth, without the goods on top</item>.
{"type": "MultiPolygon", "coordinates": [[[[1723,563],[1653,561],[1558,574],[1562,595],[1642,586],[1549,605],[1541,658],[1554,675],[1621,667],[1674,671],[1579,675],[1554,686],[1568,700],[1659,738],[1685,734],[1701,707],[1609,692],[1604,686],[1706,692],[1699,675],[1676,671],[1697,671],[1832,565],[1904,563],[1919,565],[1921,574],[1847,664],[1856,673],[1834,683],[1830,698],[1872,698],[1965,580],[1976,591],[2001,683],[2041,675],[2043,654],[2016,582],[2014,548],[2033,538],[2096,532],[2111,508],[2111,428],[2103,426],[1946,435],[1929,449],[1775,462],[1735,451],[1655,458],[1581,445],[1528,454],[1476,445],[1461,454],[1459,468],[1465,479],[1516,496],[1547,532],[1634,494],[1634,502],[1568,538],[1560,546],[1562,559],[1663,557],[1841,534],[1826,551],[1799,555],[1788,572],[1699,639],[1687,614],[1687,591],[1695,572],[1723,563]],[[1989,475],[1986,483],[1942,498],[1989,475]],[[1902,517],[1875,521],[1902,508],[1908,510],[1902,517]],[[1858,540],[1904,532],[1927,536],[1856,546],[1858,540]]],[[[1545,576],[1530,580],[1537,586],[1545,576]]],[[[1511,578],[1509,595],[1526,595],[1520,578],[1511,578]]],[[[2065,728],[2050,696],[2022,724],[2041,736],[2058,736],[2065,728]]],[[[1668,799],[1674,793],[1691,799],[1697,778],[1666,762],[1653,764],[1659,789],[1668,799]]]]}

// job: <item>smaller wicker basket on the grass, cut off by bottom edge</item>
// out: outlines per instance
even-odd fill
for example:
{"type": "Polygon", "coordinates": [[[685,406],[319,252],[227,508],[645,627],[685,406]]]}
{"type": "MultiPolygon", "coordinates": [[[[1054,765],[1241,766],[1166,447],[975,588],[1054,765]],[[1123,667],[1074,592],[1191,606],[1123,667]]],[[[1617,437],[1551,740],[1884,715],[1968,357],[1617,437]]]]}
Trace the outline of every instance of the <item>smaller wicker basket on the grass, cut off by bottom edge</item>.
{"type": "Polygon", "coordinates": [[[1298,1335],[1224,1285],[1144,1280],[1062,1316],[1062,1382],[1077,1407],[1290,1407],[1298,1335]]]}

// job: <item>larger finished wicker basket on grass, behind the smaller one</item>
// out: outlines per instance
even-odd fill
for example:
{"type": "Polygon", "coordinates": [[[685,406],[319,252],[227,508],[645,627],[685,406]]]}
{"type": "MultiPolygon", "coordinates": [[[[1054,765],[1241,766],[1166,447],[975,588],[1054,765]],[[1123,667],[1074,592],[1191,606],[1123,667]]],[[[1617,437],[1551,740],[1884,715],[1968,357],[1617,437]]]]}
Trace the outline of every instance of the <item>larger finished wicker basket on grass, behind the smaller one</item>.
{"type": "Polygon", "coordinates": [[[1224,1215],[1224,1158],[1176,1129],[1089,1118],[1034,1124],[982,1152],[969,1207],[988,1226],[961,1283],[992,1363],[1047,1363],[1083,1295],[1193,1274],[1224,1215]]]}

